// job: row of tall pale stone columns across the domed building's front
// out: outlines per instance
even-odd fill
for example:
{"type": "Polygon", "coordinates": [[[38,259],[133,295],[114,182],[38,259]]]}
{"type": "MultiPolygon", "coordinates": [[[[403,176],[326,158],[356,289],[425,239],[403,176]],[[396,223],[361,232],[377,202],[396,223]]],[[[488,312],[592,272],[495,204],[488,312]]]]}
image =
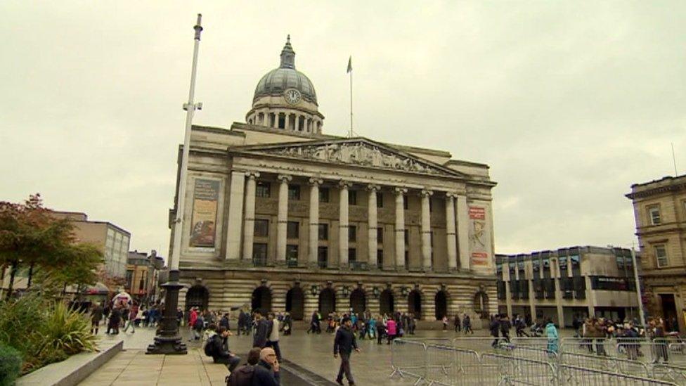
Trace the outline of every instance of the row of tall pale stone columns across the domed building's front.
{"type": "MultiPolygon", "coordinates": [[[[250,261],[253,252],[254,240],[254,216],[255,216],[255,197],[256,184],[259,172],[233,171],[231,173],[231,186],[229,189],[229,213],[227,226],[227,248],[226,259],[242,259],[250,261]],[[245,203],[245,205],[244,205],[245,203]],[[245,208],[245,213],[243,209],[245,208]],[[241,226],[242,224],[242,226],[241,226]]],[[[305,176],[301,176],[306,178],[305,176]]],[[[286,240],[287,240],[287,219],[288,219],[288,184],[293,176],[280,174],[278,181],[278,215],[277,215],[277,236],[276,236],[276,263],[286,264],[286,240]]],[[[318,262],[318,241],[319,241],[319,188],[323,184],[323,179],[307,179],[309,190],[309,241],[307,249],[307,265],[315,268],[318,262]]],[[[348,231],[349,231],[349,188],[352,186],[350,181],[338,181],[339,187],[339,267],[348,266],[348,231]]],[[[371,269],[377,267],[377,193],[382,190],[382,186],[377,184],[366,184],[368,191],[368,250],[367,262],[371,269]]],[[[394,227],[394,265],[398,270],[405,270],[408,267],[405,262],[406,240],[405,240],[405,197],[408,188],[402,186],[391,186],[395,195],[395,227],[394,227]]],[[[421,261],[422,269],[431,271],[432,267],[432,238],[431,238],[431,205],[429,200],[433,195],[439,196],[446,201],[446,240],[448,257],[448,270],[470,269],[469,257],[469,235],[468,235],[468,208],[467,197],[456,192],[434,191],[426,188],[420,191],[421,194],[421,261]],[[458,265],[459,257],[459,265],[458,265]]]]}

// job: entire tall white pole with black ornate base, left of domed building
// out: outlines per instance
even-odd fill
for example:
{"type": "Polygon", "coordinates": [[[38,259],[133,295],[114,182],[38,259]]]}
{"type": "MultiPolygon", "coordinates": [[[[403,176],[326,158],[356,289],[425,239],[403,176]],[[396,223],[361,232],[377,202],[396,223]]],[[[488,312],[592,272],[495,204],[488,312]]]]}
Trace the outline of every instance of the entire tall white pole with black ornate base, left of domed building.
{"type": "Polygon", "coordinates": [[[185,210],[186,180],[188,179],[188,157],[190,157],[190,131],[193,126],[193,112],[202,109],[202,103],[195,103],[195,72],[198,69],[198,50],[200,49],[200,20],[202,15],[198,13],[198,22],[193,27],[195,40],[193,44],[193,67],[190,72],[190,91],[188,91],[188,103],[183,104],[186,110],[186,131],[183,137],[183,155],[181,157],[181,170],[179,172],[179,191],[176,195],[176,218],[174,219],[174,233],[172,238],[171,256],[169,256],[169,280],[162,287],[164,295],[164,315],[162,325],[157,329],[157,335],[152,345],[148,346],[145,354],[187,354],[186,345],[179,335],[179,324],[176,321],[176,308],[179,307],[179,289],[183,287],[179,283],[179,259],[181,257],[181,236],[183,234],[183,213],[185,210]]]}

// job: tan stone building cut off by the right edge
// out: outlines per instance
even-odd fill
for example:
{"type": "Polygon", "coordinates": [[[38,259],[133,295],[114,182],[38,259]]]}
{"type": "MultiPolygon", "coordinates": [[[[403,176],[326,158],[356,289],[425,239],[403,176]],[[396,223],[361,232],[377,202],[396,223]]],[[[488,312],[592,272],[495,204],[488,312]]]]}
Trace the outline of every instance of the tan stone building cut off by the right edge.
{"type": "Polygon", "coordinates": [[[644,302],[670,330],[685,331],[686,175],[631,186],[642,256],[644,302]],[[676,320],[677,323],[673,323],[676,320]]]}

